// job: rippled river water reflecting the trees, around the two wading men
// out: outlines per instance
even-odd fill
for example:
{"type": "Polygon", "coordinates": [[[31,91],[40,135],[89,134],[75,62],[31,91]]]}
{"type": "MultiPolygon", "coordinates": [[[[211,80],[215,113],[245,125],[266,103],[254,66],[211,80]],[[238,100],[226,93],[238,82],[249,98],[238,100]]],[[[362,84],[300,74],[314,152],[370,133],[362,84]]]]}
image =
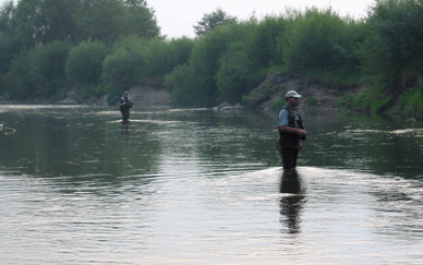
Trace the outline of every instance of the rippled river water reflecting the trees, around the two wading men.
{"type": "Polygon", "coordinates": [[[0,106],[0,263],[423,264],[423,123],[301,113],[0,106]]]}

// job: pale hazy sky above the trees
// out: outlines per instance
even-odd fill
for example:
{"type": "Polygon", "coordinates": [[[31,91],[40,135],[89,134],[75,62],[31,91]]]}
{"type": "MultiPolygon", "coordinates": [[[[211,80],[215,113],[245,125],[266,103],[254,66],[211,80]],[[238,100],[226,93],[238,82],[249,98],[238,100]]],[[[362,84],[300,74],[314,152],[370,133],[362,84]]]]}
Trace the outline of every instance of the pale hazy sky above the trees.
{"type": "Polygon", "coordinates": [[[362,17],[373,3],[374,0],[147,0],[148,7],[156,11],[161,34],[168,37],[193,37],[193,25],[204,14],[211,13],[219,7],[239,20],[246,20],[252,14],[262,19],[266,14],[283,13],[286,8],[304,10],[305,7],[331,7],[340,15],[362,17]]]}

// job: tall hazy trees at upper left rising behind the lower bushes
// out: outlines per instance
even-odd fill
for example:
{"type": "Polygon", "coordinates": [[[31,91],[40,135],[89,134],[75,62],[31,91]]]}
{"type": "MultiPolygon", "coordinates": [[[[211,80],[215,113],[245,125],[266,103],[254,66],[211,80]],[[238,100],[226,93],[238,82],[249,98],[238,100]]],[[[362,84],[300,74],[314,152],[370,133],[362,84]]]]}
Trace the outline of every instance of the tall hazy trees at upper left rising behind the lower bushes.
{"type": "Polygon", "coordinates": [[[0,32],[20,48],[55,40],[112,43],[120,36],[159,35],[153,10],[138,0],[20,0],[1,8],[0,22],[0,32]]]}

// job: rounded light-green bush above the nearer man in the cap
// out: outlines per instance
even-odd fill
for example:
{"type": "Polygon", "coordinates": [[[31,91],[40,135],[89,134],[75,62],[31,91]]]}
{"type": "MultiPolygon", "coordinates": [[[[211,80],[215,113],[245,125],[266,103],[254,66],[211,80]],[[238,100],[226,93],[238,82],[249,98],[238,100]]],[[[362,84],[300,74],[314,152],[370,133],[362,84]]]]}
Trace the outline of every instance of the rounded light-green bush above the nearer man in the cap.
{"type": "Polygon", "coordinates": [[[354,69],[353,51],[363,37],[352,20],[341,19],[327,9],[309,9],[290,23],[288,37],[281,44],[288,71],[307,72],[314,69],[354,69]]]}

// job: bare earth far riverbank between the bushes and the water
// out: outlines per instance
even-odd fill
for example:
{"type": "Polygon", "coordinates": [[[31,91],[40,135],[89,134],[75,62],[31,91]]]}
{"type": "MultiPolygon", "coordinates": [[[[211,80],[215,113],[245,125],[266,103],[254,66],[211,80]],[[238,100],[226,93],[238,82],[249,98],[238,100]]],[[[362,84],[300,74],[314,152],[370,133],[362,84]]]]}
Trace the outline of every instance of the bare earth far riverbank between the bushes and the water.
{"type": "MultiPolygon", "coordinates": [[[[235,105],[221,104],[217,109],[246,108],[257,110],[279,109],[285,105],[285,94],[288,91],[297,91],[303,96],[303,107],[321,107],[335,109],[337,103],[347,94],[356,94],[364,87],[337,87],[330,84],[325,84],[318,80],[305,80],[302,77],[283,76],[279,71],[267,73],[259,85],[254,88],[242,103],[235,105]],[[221,107],[223,106],[223,107],[221,107]]],[[[136,107],[142,108],[170,108],[172,106],[169,93],[166,91],[162,82],[149,81],[132,86],[130,96],[135,101],[136,107]]],[[[118,103],[119,98],[116,98],[118,103]]],[[[0,97],[0,104],[35,104],[35,105],[110,105],[108,95],[99,98],[90,98],[81,100],[75,93],[70,93],[64,99],[49,100],[44,98],[34,98],[23,103],[9,101],[5,96],[0,97]]],[[[111,104],[113,105],[113,104],[111,104]]]]}

